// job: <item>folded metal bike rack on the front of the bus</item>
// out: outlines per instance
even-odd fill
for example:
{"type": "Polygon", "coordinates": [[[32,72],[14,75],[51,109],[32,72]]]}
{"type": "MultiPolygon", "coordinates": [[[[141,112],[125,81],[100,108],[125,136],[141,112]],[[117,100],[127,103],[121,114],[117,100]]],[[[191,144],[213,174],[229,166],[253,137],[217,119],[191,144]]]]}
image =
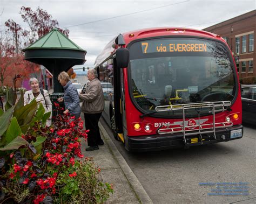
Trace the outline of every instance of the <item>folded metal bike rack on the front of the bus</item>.
{"type": "MultiPolygon", "coordinates": [[[[164,135],[168,133],[183,133],[184,142],[186,144],[186,136],[192,136],[192,135],[200,135],[201,139],[202,133],[213,133],[214,138],[216,139],[215,130],[217,128],[228,128],[233,126],[232,122],[221,122],[221,123],[215,123],[215,112],[223,112],[227,110],[227,107],[230,107],[231,102],[230,101],[218,101],[218,102],[203,102],[203,103],[187,103],[187,104],[174,104],[174,105],[160,105],[156,107],[157,112],[161,111],[175,111],[175,110],[183,110],[183,121],[180,122],[179,127],[171,127],[172,125],[177,124],[166,124],[160,126],[158,129],[159,135],[164,135]],[[215,109],[220,107],[221,109],[215,109]],[[186,109],[202,109],[202,108],[211,108],[211,111],[213,114],[212,123],[205,123],[200,124],[200,111],[198,111],[198,125],[186,125],[185,121],[185,110],[186,109]],[[167,126],[167,128],[161,128],[163,126],[167,126]],[[194,129],[198,128],[198,129],[194,129]]],[[[204,119],[201,119],[202,122],[204,122],[204,119]]]]}

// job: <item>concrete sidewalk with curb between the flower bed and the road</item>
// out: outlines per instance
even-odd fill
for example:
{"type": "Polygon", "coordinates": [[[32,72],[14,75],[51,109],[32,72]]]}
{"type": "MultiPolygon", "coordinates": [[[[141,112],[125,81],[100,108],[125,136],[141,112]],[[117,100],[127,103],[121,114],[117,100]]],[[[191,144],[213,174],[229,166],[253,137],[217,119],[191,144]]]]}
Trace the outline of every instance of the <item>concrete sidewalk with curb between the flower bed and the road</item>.
{"type": "Polygon", "coordinates": [[[103,182],[114,185],[114,193],[107,203],[153,203],[100,122],[99,129],[105,144],[99,146],[99,150],[86,152],[87,142],[82,142],[82,153],[85,157],[93,157],[102,170],[103,182]]]}

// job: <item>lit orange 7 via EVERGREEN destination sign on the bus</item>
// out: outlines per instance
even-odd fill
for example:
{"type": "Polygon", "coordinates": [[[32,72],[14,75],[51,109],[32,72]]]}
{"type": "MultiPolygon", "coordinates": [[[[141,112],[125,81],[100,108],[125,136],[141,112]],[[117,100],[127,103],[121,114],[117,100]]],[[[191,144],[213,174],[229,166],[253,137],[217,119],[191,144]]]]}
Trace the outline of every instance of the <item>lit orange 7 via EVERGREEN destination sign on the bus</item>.
{"type": "Polygon", "coordinates": [[[142,41],[142,52],[208,52],[208,44],[203,40],[148,40],[142,41]]]}

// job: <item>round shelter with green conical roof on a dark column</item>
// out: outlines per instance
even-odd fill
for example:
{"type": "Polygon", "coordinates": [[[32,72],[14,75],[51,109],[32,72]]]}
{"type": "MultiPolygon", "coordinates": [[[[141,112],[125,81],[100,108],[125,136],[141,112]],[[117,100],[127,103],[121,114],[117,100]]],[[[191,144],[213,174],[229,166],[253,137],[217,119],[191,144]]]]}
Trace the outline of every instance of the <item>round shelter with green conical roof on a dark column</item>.
{"type": "Polygon", "coordinates": [[[58,74],[68,71],[75,65],[83,65],[86,61],[86,51],[56,28],[25,48],[23,52],[25,60],[43,65],[53,74],[54,93],[63,90],[58,82],[58,74]]]}

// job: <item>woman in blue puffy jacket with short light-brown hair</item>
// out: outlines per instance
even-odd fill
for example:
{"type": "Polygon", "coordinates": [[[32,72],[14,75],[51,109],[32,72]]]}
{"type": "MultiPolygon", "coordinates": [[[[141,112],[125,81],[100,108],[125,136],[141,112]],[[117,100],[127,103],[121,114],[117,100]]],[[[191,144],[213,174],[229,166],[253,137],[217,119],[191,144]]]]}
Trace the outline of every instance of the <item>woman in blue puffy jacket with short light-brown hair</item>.
{"type": "Polygon", "coordinates": [[[77,89],[75,86],[72,85],[69,75],[66,72],[62,72],[58,75],[59,83],[64,88],[64,97],[60,97],[58,102],[63,102],[65,104],[65,111],[64,114],[68,112],[71,116],[75,116],[76,118],[80,117],[81,108],[80,108],[80,100],[77,93],[77,89]]]}

